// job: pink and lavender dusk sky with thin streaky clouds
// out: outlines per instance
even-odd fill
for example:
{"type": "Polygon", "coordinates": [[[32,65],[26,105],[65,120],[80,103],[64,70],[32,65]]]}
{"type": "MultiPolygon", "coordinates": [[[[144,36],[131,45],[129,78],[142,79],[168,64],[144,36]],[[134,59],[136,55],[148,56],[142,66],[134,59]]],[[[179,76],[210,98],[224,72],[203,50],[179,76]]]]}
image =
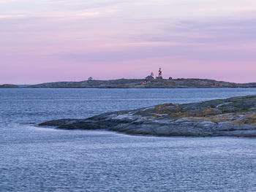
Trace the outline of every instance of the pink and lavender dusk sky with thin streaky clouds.
{"type": "Polygon", "coordinates": [[[0,84],[256,82],[255,0],[0,0],[0,84]]]}

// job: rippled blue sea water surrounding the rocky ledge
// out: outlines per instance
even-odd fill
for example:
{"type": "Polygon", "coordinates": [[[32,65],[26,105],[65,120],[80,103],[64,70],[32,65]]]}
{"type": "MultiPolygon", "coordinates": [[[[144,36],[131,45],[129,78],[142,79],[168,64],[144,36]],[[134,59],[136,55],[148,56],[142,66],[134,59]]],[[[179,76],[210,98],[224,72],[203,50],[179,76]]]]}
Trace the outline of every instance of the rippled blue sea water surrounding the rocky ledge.
{"type": "Polygon", "coordinates": [[[256,89],[0,89],[0,191],[256,191],[255,139],[35,126],[250,94],[256,89]]]}

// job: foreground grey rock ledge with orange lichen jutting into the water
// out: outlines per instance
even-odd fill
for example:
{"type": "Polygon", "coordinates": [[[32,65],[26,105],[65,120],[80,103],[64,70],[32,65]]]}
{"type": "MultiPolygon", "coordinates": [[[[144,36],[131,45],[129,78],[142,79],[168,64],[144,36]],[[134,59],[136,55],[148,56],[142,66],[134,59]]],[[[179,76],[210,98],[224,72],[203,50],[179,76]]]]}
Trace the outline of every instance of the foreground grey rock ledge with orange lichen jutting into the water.
{"type": "Polygon", "coordinates": [[[50,120],[39,126],[158,136],[256,137],[256,95],[191,104],[159,104],[87,119],[50,120]]]}

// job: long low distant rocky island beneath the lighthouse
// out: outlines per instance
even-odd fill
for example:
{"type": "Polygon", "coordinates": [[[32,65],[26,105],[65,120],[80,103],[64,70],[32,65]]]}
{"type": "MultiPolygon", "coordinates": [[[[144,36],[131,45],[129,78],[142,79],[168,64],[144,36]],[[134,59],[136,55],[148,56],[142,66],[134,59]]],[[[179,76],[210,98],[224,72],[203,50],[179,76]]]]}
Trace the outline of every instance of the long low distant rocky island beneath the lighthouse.
{"type": "Polygon", "coordinates": [[[202,79],[173,80],[86,80],[80,82],[47,82],[29,88],[256,88],[256,82],[235,83],[202,79]]]}

